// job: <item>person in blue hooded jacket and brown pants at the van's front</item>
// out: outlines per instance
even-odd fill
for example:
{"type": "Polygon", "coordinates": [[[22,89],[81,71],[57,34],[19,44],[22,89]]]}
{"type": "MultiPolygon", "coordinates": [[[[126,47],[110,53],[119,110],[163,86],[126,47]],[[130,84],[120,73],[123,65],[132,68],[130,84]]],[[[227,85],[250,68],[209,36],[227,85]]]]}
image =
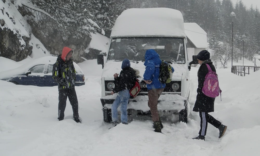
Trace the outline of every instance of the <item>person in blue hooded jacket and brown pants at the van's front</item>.
{"type": "MultiPolygon", "coordinates": [[[[158,53],[153,49],[148,49],[145,52],[145,72],[144,81],[148,89],[148,106],[150,108],[153,120],[153,128],[155,132],[160,132],[163,128],[161,123],[157,104],[158,99],[165,88],[165,83],[159,80],[161,59],[158,53]]],[[[174,69],[172,68],[172,72],[174,69]]]]}

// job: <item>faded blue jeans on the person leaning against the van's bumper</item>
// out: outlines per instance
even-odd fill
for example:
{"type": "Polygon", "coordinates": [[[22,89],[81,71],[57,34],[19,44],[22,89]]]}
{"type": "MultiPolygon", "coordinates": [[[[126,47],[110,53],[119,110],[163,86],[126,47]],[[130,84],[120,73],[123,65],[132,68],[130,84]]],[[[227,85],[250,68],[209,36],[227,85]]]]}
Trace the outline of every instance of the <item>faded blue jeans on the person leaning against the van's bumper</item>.
{"type": "Polygon", "coordinates": [[[111,113],[112,113],[112,121],[119,123],[118,120],[118,111],[117,108],[119,107],[119,105],[121,104],[121,122],[127,123],[127,104],[128,104],[128,100],[129,100],[130,94],[129,94],[129,90],[124,89],[121,90],[120,92],[118,92],[118,95],[115,98],[115,101],[112,104],[112,108],[111,108],[111,113]]]}

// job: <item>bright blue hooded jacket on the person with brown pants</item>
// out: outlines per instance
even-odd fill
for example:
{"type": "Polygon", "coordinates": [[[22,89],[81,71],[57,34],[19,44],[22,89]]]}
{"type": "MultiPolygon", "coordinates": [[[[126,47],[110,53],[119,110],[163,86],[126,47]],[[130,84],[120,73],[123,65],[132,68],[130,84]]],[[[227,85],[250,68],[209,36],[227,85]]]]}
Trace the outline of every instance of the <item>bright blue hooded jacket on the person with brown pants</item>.
{"type": "Polygon", "coordinates": [[[146,84],[147,89],[165,88],[165,83],[159,80],[161,59],[159,54],[153,49],[148,49],[145,52],[145,73],[144,80],[153,81],[151,84],[146,84]]]}

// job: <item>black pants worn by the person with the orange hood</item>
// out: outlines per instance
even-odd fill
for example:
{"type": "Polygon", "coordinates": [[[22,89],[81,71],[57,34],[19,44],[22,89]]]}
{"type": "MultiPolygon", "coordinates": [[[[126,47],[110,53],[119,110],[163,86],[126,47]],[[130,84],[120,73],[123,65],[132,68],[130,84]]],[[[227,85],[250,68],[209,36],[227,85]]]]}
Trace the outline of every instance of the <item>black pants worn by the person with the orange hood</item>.
{"type": "Polygon", "coordinates": [[[59,116],[58,119],[64,119],[64,111],[66,108],[67,97],[69,98],[70,105],[72,106],[73,118],[79,118],[79,105],[75,88],[73,89],[59,89],[59,116]]]}

